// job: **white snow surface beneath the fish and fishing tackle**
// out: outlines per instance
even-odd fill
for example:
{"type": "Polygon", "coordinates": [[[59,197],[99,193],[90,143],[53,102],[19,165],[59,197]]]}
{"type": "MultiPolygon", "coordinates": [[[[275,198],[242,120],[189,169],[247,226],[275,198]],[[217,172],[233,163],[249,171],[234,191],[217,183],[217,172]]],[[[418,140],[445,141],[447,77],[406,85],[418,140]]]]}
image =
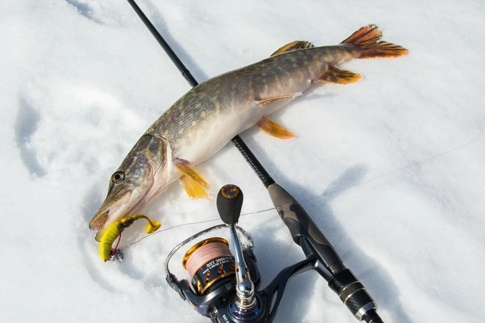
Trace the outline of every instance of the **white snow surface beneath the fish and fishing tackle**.
{"type": "MultiPolygon", "coordinates": [[[[335,45],[369,23],[408,48],[346,62],[361,81],[314,86],[276,112],[297,138],[242,138],[297,200],[336,191],[303,204],[384,321],[482,321],[483,1],[139,2],[199,81],[293,40],[335,45]]],[[[107,263],[88,229],[110,175],[186,81],[125,1],[4,0],[0,30],[0,321],[208,322],[167,286],[162,265],[218,221],[155,234],[107,263]]],[[[271,208],[232,144],[198,170],[216,189],[240,185],[243,213],[271,208]]],[[[190,200],[178,184],[145,214],[163,228],[217,218],[214,200],[190,200]]],[[[303,258],[275,210],[240,224],[262,286],[303,258]]],[[[180,258],[173,267],[184,275],[180,258]]],[[[308,272],[290,282],[275,322],[356,321],[308,272]]]]}

